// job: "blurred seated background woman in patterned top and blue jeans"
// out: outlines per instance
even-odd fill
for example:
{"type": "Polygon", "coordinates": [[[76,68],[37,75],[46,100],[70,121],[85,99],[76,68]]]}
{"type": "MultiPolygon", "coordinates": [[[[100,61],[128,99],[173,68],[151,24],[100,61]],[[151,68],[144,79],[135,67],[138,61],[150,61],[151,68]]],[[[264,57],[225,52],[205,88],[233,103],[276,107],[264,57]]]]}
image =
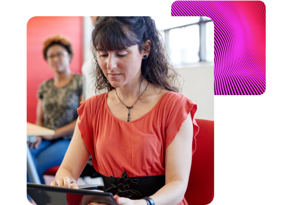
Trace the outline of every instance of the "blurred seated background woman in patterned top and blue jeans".
{"type": "MultiPolygon", "coordinates": [[[[81,101],[82,76],[70,71],[73,51],[67,38],[61,35],[48,38],[43,55],[55,75],[40,85],[36,124],[55,130],[55,134],[37,136],[37,142],[29,146],[41,183],[45,184],[43,173],[61,164],[71,141],[81,101]]],[[[27,182],[30,182],[28,173],[27,182]]]]}

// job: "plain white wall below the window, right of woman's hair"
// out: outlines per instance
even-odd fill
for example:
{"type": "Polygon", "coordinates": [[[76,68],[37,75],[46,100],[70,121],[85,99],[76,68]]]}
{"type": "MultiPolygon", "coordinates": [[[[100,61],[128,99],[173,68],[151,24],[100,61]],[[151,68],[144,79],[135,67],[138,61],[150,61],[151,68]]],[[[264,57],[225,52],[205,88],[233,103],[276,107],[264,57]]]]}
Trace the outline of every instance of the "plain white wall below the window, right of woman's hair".
{"type": "Polygon", "coordinates": [[[182,94],[197,104],[195,118],[214,120],[214,65],[198,63],[177,66],[182,94]]]}

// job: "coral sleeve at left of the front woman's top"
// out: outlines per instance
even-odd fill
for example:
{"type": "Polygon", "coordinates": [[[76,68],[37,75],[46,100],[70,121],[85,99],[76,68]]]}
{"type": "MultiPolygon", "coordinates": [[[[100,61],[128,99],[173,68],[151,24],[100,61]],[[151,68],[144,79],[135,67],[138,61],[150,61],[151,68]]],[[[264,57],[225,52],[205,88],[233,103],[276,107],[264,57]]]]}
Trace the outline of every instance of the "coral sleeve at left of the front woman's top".
{"type": "Polygon", "coordinates": [[[77,109],[79,116],[78,128],[81,133],[81,138],[85,143],[88,151],[92,155],[93,166],[96,167],[96,157],[94,148],[94,131],[93,131],[93,120],[94,119],[94,105],[91,98],[84,100],[80,103],[80,107],[77,109]]]}

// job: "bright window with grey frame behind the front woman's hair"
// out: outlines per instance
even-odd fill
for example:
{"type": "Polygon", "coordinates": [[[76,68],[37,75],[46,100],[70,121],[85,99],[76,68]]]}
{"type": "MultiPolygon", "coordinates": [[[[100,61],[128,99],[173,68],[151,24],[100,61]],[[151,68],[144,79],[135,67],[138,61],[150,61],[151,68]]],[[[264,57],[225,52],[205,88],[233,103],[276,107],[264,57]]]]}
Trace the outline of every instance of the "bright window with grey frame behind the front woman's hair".
{"type": "Polygon", "coordinates": [[[214,24],[208,17],[152,17],[176,65],[214,61],[214,24]]]}

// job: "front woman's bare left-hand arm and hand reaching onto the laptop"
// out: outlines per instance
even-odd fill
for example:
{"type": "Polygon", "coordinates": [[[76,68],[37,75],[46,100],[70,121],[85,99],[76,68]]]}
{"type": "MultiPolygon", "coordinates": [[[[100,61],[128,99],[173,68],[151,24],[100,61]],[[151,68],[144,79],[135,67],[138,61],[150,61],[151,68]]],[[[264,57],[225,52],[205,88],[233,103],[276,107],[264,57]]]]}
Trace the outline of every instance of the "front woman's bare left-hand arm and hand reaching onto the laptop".
{"type": "MultiPolygon", "coordinates": [[[[58,186],[64,185],[64,187],[78,188],[76,181],[90,157],[90,153],[81,138],[81,133],[77,125],[78,122],[79,118],[77,118],[73,137],[64,159],[55,175],[55,181],[58,183],[58,186]],[[71,184],[71,181],[75,184],[71,184]]],[[[51,182],[52,186],[56,186],[55,181],[51,182]]]]}

